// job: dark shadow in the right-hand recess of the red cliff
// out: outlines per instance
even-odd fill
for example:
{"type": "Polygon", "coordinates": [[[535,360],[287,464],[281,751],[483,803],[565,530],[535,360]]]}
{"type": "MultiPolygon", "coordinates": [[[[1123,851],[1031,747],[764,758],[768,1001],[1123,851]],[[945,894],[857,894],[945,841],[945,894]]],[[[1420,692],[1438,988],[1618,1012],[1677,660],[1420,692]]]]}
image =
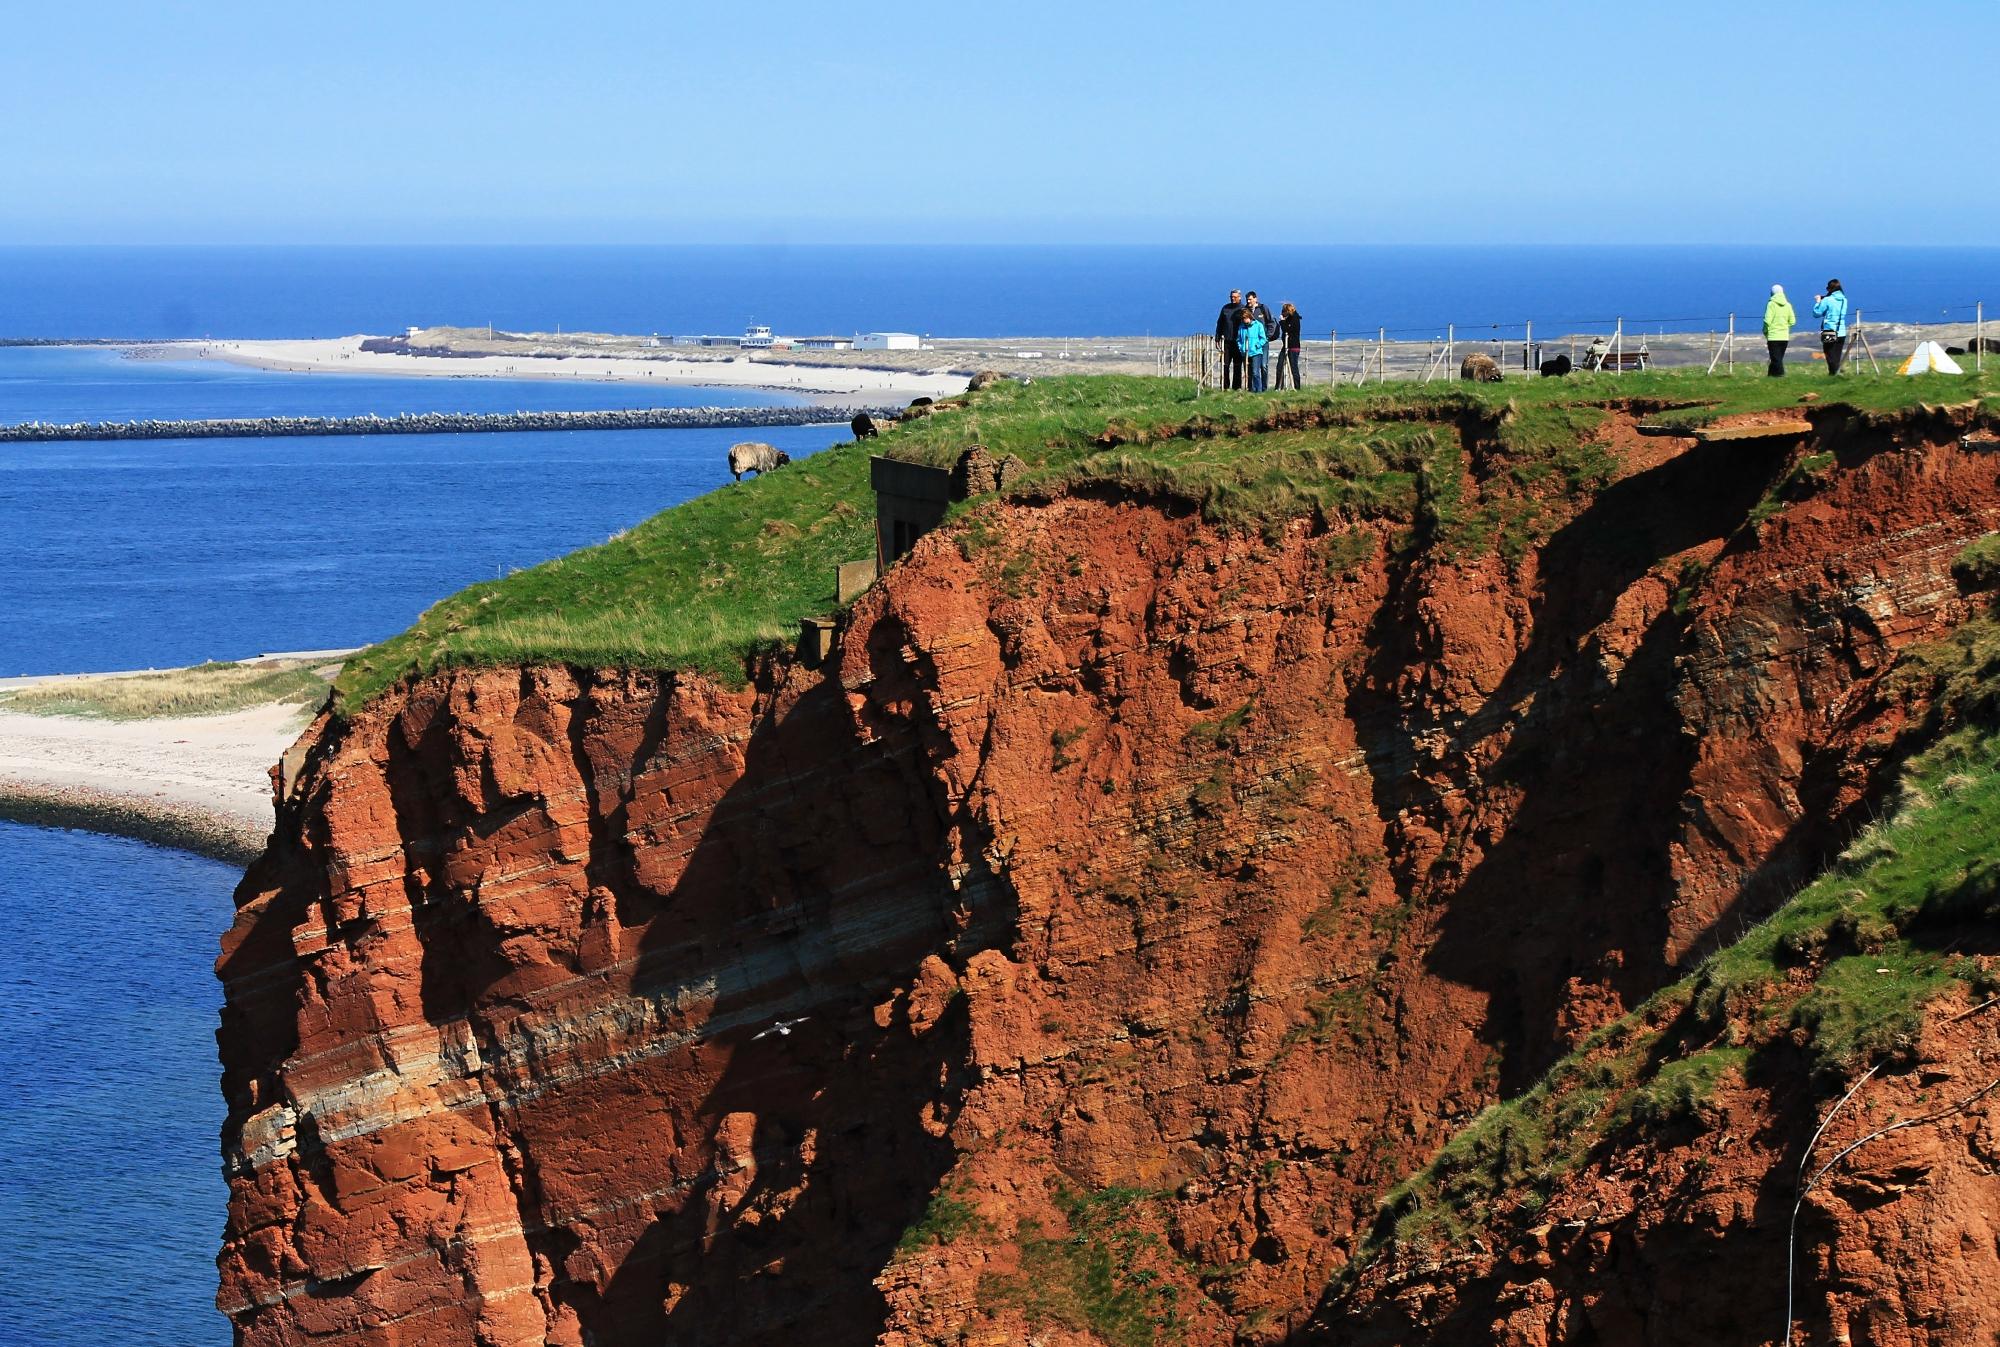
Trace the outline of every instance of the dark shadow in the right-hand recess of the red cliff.
{"type": "Polygon", "coordinates": [[[1350,715],[1364,727],[1382,817],[1432,811],[1440,787],[1476,791],[1474,821],[1492,817],[1486,801],[1514,801],[1492,837],[1432,813],[1448,859],[1398,873],[1404,901],[1428,893],[1442,905],[1428,971],[1488,993],[1480,1037],[1500,1053],[1502,1093],[1564,1049],[1572,977],[1630,993],[1666,973],[1656,951],[1674,897],[1668,843],[1694,763],[1674,705],[1684,618],[1662,612],[1616,675],[1592,638],[1664,558],[1736,532],[1784,462],[1770,448],[1696,446],[1598,492],[1544,546],[1528,642],[1496,691],[1462,725],[1442,725],[1462,745],[1444,781],[1412,769],[1440,725],[1398,695],[1412,668],[1442,658],[1422,638],[1422,554],[1378,616],[1350,715]],[[1478,745],[1496,735],[1498,759],[1474,771],[1478,745]],[[1452,857],[1470,849],[1460,873],[1452,857]]]}

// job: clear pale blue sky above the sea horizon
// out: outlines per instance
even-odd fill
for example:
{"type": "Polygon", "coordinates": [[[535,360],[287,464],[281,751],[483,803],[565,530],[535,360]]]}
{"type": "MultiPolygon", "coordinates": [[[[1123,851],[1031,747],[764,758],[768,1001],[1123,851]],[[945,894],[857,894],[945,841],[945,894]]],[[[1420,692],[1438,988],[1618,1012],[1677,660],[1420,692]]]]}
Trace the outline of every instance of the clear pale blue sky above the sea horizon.
{"type": "Polygon", "coordinates": [[[2000,238],[1994,0],[4,22],[0,242],[2000,238]]]}

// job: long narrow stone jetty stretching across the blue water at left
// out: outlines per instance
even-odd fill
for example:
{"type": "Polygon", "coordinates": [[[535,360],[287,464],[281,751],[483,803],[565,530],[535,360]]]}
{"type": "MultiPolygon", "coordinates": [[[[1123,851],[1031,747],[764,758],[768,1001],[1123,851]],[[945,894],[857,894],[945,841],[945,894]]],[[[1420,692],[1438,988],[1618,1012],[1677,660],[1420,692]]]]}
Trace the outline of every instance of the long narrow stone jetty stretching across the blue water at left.
{"type": "Polygon", "coordinates": [[[622,408],[614,412],[408,412],[402,416],[258,416],[200,422],[28,422],[0,444],[44,440],[272,440],[286,436],[446,436],[502,430],[706,430],[834,426],[898,408],[622,408]]]}

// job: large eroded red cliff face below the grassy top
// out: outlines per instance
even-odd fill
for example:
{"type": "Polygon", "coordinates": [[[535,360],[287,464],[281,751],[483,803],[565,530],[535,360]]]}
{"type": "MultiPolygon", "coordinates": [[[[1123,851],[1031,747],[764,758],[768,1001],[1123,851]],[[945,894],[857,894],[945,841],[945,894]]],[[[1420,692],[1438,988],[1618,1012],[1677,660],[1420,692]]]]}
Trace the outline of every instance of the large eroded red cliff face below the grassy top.
{"type": "Polygon", "coordinates": [[[824,670],[322,719],[220,961],[238,1339],[1292,1333],[1458,1121],[1818,865],[2000,522],[1948,418],[1604,434],[1514,562],[992,502],[824,670]]]}

